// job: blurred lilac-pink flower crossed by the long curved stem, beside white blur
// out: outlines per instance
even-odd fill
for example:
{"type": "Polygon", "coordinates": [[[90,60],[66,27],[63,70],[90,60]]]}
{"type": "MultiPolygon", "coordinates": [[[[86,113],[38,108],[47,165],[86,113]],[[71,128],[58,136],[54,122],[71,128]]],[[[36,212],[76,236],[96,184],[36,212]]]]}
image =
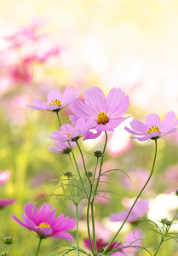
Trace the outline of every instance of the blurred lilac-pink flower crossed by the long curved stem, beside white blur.
{"type": "MultiPolygon", "coordinates": [[[[145,199],[137,201],[132,212],[130,212],[129,218],[127,219],[126,222],[135,223],[141,217],[144,217],[146,215],[146,212],[148,211],[148,206],[149,206],[149,202],[145,199]]],[[[129,213],[129,208],[125,211],[121,211],[118,213],[112,213],[111,221],[113,221],[113,222],[122,221],[123,222],[123,220],[126,218],[127,214],[129,213]]]]}

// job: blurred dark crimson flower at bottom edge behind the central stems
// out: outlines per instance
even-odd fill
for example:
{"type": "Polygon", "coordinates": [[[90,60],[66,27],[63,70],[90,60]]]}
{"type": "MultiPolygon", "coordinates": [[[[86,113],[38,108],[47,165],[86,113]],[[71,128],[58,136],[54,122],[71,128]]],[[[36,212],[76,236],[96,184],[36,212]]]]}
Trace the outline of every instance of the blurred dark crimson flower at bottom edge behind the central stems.
{"type": "MultiPolygon", "coordinates": [[[[89,239],[85,238],[83,239],[84,242],[84,246],[91,249],[90,244],[89,244],[89,239]]],[[[122,252],[122,249],[119,249],[119,247],[122,247],[121,243],[118,243],[118,245],[116,245],[117,242],[112,242],[112,245],[108,248],[108,251],[112,251],[112,249],[118,249],[120,252],[122,252]]],[[[94,246],[94,242],[92,241],[92,245],[94,246]]],[[[103,241],[102,239],[97,239],[96,240],[96,247],[97,247],[97,253],[102,253],[104,251],[104,247],[106,247],[108,245],[108,242],[103,241]]],[[[113,252],[112,255],[123,255],[123,253],[119,253],[119,252],[113,252]]]]}

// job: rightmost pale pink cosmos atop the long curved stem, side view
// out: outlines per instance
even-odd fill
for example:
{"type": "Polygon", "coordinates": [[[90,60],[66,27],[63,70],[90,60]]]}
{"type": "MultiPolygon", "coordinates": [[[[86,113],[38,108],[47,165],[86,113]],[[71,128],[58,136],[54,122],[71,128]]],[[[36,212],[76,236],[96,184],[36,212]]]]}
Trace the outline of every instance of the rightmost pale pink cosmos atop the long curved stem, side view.
{"type": "Polygon", "coordinates": [[[170,111],[165,115],[162,122],[157,113],[151,113],[146,116],[145,124],[136,119],[130,122],[130,126],[134,131],[130,130],[128,127],[124,127],[124,129],[138,136],[131,138],[146,141],[149,139],[158,139],[166,134],[177,131],[177,125],[178,119],[175,120],[175,113],[170,111]]]}

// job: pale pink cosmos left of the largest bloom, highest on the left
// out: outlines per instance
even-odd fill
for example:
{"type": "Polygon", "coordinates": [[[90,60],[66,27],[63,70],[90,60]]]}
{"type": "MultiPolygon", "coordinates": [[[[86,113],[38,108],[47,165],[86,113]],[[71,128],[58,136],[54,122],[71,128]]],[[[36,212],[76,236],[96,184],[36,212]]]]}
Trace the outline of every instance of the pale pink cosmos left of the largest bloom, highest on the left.
{"type": "Polygon", "coordinates": [[[61,108],[71,104],[72,101],[78,97],[78,94],[79,90],[74,93],[74,89],[71,86],[66,88],[63,95],[60,90],[51,90],[48,94],[48,102],[43,102],[40,99],[34,99],[32,102],[33,106],[26,106],[36,110],[60,111],[61,108]]]}

